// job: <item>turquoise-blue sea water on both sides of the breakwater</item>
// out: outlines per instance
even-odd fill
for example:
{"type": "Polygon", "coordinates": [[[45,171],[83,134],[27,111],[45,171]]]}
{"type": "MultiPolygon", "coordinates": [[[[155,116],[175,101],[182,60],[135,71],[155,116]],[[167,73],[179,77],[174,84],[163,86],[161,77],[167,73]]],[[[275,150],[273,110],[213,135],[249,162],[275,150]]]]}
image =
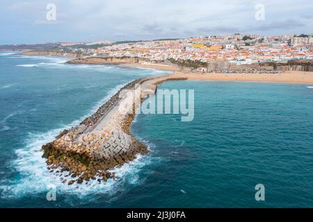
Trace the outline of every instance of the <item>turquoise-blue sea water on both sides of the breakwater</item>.
{"type": "Polygon", "coordinates": [[[40,146],[122,85],[153,69],[63,65],[64,58],[0,52],[0,207],[313,207],[310,85],[177,81],[195,89],[195,117],[139,114],[150,153],[105,184],[68,187],[40,146]],[[255,185],[265,186],[264,202],[255,185]],[[56,185],[56,201],[47,201],[56,185]]]}

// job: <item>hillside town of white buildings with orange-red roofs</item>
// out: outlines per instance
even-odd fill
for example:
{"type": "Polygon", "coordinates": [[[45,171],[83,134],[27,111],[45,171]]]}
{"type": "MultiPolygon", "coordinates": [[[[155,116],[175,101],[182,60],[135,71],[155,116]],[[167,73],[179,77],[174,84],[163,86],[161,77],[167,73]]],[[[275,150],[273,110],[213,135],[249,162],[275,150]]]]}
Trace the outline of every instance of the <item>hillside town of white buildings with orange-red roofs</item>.
{"type": "MultiPolygon", "coordinates": [[[[100,42],[101,43],[101,42],[100,42]]],[[[106,42],[107,43],[107,42],[106,42]]],[[[95,44],[99,44],[96,42],[95,44]]],[[[236,65],[258,62],[313,60],[313,35],[208,35],[183,40],[110,42],[98,48],[75,48],[77,43],[63,43],[67,49],[84,56],[138,57],[150,60],[225,60],[236,65]]],[[[88,45],[93,45],[89,43],[88,45]]]]}

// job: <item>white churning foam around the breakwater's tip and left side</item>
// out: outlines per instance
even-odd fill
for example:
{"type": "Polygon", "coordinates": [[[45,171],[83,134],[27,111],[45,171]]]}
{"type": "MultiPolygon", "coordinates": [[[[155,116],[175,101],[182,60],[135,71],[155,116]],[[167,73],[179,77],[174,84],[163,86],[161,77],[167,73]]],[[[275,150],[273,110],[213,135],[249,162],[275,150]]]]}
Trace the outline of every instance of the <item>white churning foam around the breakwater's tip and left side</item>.
{"type": "MultiPolygon", "coordinates": [[[[138,155],[133,162],[124,164],[120,168],[113,169],[112,171],[115,172],[116,176],[115,180],[109,179],[107,182],[101,182],[100,184],[97,180],[90,180],[87,185],[85,182],[81,185],[75,182],[72,186],[63,184],[60,175],[50,173],[47,169],[45,159],[42,158],[41,146],[43,144],[53,141],[56,135],[65,128],[77,126],[80,121],[94,113],[100,105],[111,98],[113,94],[118,92],[118,89],[122,86],[123,85],[118,85],[111,89],[108,95],[99,101],[85,117],[81,117],[81,119],[74,121],[67,126],[49,130],[47,133],[30,133],[28,139],[26,139],[25,147],[19,148],[15,151],[17,159],[13,162],[13,167],[21,174],[21,178],[8,182],[1,181],[1,184],[3,184],[0,187],[3,191],[2,195],[6,198],[19,198],[20,196],[40,194],[40,192],[45,194],[45,192],[49,191],[47,187],[48,185],[55,185],[57,194],[58,192],[62,194],[75,194],[77,197],[85,199],[90,196],[90,194],[112,195],[115,194],[116,191],[123,191],[126,189],[127,186],[125,185],[137,185],[143,182],[143,180],[140,180],[138,177],[138,172],[141,171],[146,164],[151,162],[151,157],[149,155],[138,155]]],[[[12,117],[12,115],[13,114],[6,117],[6,119],[12,117]]],[[[63,174],[63,176],[65,176],[65,174],[63,174]]],[[[67,178],[67,180],[69,180],[69,178],[67,178]]],[[[72,198],[67,199],[68,202],[71,200],[72,198]]],[[[74,204],[75,203],[73,203],[73,205],[74,204]]]]}

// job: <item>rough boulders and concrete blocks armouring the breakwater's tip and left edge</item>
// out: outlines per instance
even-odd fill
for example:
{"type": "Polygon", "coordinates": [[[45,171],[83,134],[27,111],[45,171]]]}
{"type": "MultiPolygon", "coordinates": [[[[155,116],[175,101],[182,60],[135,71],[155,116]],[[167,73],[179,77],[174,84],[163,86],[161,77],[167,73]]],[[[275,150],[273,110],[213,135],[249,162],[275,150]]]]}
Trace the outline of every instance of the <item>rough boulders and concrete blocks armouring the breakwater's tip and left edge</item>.
{"type": "MultiPolygon", "coordinates": [[[[131,89],[141,81],[142,79],[134,80],[122,89],[131,89]]],[[[47,169],[51,173],[61,173],[63,183],[67,182],[68,185],[72,185],[75,181],[82,183],[83,180],[95,180],[96,177],[106,181],[114,178],[114,174],[110,173],[109,169],[134,160],[138,153],[147,153],[147,146],[138,142],[129,132],[129,125],[134,115],[125,118],[123,125],[127,130],[124,132],[108,131],[101,135],[89,133],[89,125],[94,125],[109,112],[120,99],[119,94],[122,89],[106,101],[95,114],[84,119],[79,126],[64,130],[54,142],[42,146],[44,152],[42,157],[47,158],[47,169]],[[114,148],[117,146],[122,146],[125,151],[115,153],[114,148]],[[100,148],[106,148],[111,153],[100,155],[100,148]],[[65,171],[66,175],[62,175],[65,171]]]]}

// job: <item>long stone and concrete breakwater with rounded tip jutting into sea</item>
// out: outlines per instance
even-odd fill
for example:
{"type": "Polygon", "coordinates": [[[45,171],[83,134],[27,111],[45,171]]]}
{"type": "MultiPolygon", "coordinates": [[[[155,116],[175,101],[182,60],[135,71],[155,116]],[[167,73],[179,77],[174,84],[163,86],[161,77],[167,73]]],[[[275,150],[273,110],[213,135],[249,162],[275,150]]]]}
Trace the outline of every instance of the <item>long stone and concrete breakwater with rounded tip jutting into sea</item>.
{"type": "Polygon", "coordinates": [[[47,158],[49,171],[58,173],[68,185],[88,183],[90,179],[102,182],[115,178],[110,169],[148,151],[147,146],[130,133],[136,105],[148,94],[154,94],[157,85],[179,79],[186,78],[172,75],[139,78],[122,87],[79,126],[64,130],[54,142],[42,146],[42,157],[47,158]],[[141,87],[140,94],[125,93],[135,92],[136,87],[141,87]]]}

